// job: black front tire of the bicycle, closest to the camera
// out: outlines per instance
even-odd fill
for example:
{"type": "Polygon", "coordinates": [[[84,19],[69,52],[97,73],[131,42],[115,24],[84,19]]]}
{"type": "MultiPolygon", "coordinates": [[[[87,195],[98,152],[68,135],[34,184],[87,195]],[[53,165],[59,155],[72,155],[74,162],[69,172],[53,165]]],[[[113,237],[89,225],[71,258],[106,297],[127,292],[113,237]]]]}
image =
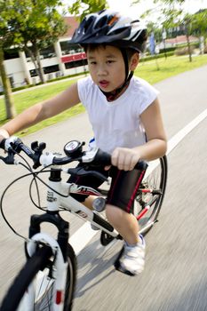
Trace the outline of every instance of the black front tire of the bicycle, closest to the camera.
{"type": "MultiPolygon", "coordinates": [[[[15,311],[20,307],[20,300],[27,291],[28,285],[33,282],[35,276],[38,275],[40,271],[44,271],[45,277],[47,277],[47,282],[49,282],[48,278],[50,278],[50,276],[48,273],[46,275],[45,269],[48,269],[48,267],[52,265],[52,261],[50,260],[51,256],[51,248],[44,245],[27,260],[25,266],[20,270],[19,275],[14,279],[9,291],[7,291],[0,308],[1,311],[15,311]]],[[[38,301],[35,299],[34,311],[51,310],[52,284],[53,281],[51,277],[51,285],[48,286],[48,289],[45,289],[44,294],[41,295],[41,299],[38,299],[38,301]],[[47,303],[48,306],[45,305],[45,303],[47,303]]],[[[68,244],[68,271],[65,286],[64,311],[72,310],[75,286],[76,255],[72,246],[68,244]]]]}

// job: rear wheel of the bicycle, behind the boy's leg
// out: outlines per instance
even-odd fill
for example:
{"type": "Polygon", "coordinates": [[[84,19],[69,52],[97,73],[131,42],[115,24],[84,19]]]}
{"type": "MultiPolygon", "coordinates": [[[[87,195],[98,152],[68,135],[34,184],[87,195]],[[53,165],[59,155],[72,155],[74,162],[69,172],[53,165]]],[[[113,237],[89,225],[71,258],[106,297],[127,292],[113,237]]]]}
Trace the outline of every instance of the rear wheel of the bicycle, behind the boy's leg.
{"type": "Polygon", "coordinates": [[[143,235],[153,227],[161,210],[167,171],[167,157],[163,156],[156,160],[153,171],[143,179],[134,200],[133,214],[139,221],[139,233],[143,235]]]}

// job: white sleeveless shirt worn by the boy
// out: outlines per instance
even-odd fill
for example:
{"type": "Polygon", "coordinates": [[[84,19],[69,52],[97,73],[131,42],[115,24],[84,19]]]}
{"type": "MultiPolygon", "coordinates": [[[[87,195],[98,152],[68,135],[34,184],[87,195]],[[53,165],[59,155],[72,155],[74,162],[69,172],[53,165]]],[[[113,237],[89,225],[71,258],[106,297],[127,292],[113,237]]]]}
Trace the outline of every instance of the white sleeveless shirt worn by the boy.
{"type": "Polygon", "coordinates": [[[145,80],[132,77],[123,94],[108,102],[91,76],[78,80],[79,98],[86,108],[96,146],[112,153],[116,147],[133,148],[145,144],[141,113],[155,100],[158,92],[145,80]]]}

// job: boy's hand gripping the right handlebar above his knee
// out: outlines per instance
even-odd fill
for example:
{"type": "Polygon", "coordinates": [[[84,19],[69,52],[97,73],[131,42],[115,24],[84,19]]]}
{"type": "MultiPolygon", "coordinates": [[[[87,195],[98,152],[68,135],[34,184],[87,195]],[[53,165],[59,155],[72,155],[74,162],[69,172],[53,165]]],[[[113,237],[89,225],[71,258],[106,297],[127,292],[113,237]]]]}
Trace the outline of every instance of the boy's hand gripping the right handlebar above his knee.
{"type": "Polygon", "coordinates": [[[112,164],[119,170],[131,171],[139,162],[140,156],[138,150],[131,148],[115,148],[111,156],[112,164]]]}

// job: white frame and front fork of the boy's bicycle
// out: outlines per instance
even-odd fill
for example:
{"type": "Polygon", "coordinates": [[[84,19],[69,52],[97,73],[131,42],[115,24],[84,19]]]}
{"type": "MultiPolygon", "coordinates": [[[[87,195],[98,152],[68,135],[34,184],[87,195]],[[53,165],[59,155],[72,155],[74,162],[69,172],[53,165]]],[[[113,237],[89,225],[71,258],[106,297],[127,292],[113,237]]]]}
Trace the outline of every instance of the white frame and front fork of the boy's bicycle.
{"type": "MultiPolygon", "coordinates": [[[[92,189],[92,187],[77,186],[76,184],[63,181],[54,182],[52,180],[49,180],[48,186],[50,188],[47,190],[46,211],[59,211],[61,206],[69,212],[76,214],[76,216],[78,216],[79,218],[84,219],[85,221],[90,221],[96,227],[103,229],[109,235],[112,235],[114,237],[118,235],[118,232],[115,229],[112,232],[108,231],[105,227],[102,227],[99,223],[95,222],[93,211],[85,207],[83,203],[79,203],[78,201],[76,201],[76,199],[70,196],[70,193],[80,192],[82,194],[92,193],[94,195],[101,195],[98,191],[92,189]],[[63,197],[57,192],[67,197],[63,197]]],[[[100,218],[102,217],[100,216],[100,218]]],[[[55,278],[53,286],[54,292],[52,295],[52,311],[62,311],[68,265],[64,262],[62,252],[57,241],[51,235],[47,235],[44,232],[33,235],[32,238],[28,240],[26,247],[29,257],[31,257],[36,251],[36,243],[44,243],[50,245],[52,248],[52,252],[55,255],[55,271],[53,271],[53,273],[55,273],[55,278]]],[[[45,289],[48,289],[48,287],[50,287],[51,285],[50,281],[45,280],[44,273],[39,273],[33,283],[29,286],[28,291],[24,294],[24,297],[20,302],[20,307],[18,308],[18,311],[33,311],[36,293],[38,292],[38,295],[36,297],[36,301],[38,301],[44,295],[45,289]]]]}

